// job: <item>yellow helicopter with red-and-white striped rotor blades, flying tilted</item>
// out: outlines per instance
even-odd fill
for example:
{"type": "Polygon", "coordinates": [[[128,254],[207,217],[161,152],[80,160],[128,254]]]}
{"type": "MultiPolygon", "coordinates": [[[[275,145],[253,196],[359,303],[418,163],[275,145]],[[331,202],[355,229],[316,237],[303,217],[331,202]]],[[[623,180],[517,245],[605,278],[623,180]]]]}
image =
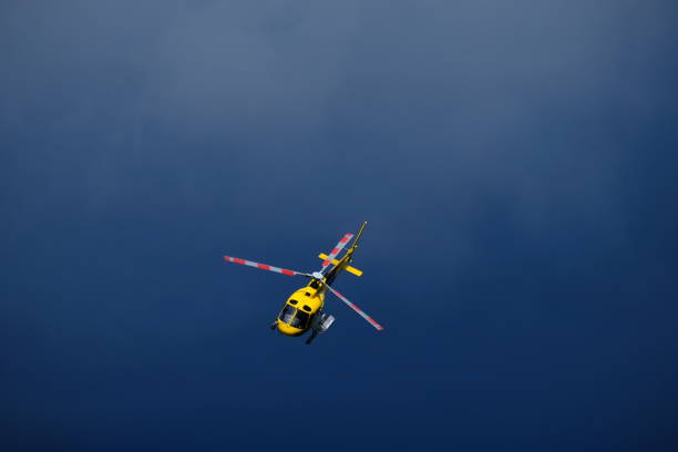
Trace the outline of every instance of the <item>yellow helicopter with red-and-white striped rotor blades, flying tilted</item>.
{"type": "Polygon", "coordinates": [[[356,276],[361,276],[362,271],[351,267],[349,264],[353,260],[353,253],[358,248],[358,240],[367,226],[367,222],[362,224],[353,244],[346,250],[343,257],[338,258],[339,254],[346,248],[347,244],[353,238],[353,234],[346,234],[337,246],[330,251],[329,255],[320,254],[318,257],[323,259],[322,267],[319,271],[307,274],[302,271],[288,270],[280,267],[274,267],[266,264],[258,264],[251,260],[239,259],[237,257],[224,256],[224,260],[256,267],[261,270],[276,271],[288,276],[304,276],[310,279],[310,282],[295,291],[278,315],[276,321],[270,326],[270,329],[278,329],[282,335],[286,336],[301,336],[309,329],[311,330],[310,336],[306,340],[306,343],[311,341],[318,336],[318,333],[326,332],[335,322],[335,317],[325,312],[325,294],[327,290],[335,294],[337,298],[348,305],[349,308],[353,309],[360,317],[366,319],[377,330],[383,330],[383,327],[377,323],[370,316],[362,311],[358,306],[349,301],[343,295],[335,290],[330,285],[333,284],[337,275],[341,270],[347,270],[356,276]],[[331,266],[331,267],[330,267],[331,266]],[[328,271],[329,270],[329,271],[328,271]]]}

